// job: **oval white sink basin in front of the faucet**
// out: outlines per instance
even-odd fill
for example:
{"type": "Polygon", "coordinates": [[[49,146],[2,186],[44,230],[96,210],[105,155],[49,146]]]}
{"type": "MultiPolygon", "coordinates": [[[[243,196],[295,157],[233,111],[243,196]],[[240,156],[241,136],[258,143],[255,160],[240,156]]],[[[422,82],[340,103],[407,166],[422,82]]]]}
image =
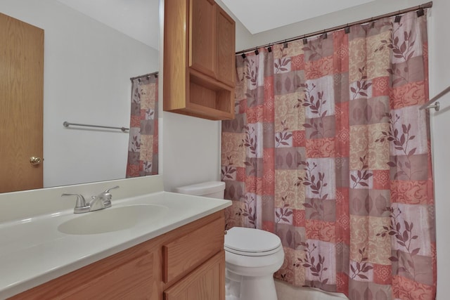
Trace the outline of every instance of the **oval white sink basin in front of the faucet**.
{"type": "Polygon", "coordinates": [[[134,204],[91,211],[58,226],[69,235],[95,235],[129,229],[143,223],[160,221],[169,208],[157,204],[134,204]]]}

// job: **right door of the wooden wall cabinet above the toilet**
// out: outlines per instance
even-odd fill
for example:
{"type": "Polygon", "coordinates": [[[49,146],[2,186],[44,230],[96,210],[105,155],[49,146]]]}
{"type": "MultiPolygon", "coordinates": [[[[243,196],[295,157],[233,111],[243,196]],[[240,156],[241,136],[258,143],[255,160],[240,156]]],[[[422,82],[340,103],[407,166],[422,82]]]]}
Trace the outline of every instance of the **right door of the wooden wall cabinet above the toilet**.
{"type": "Polygon", "coordinates": [[[229,86],[235,85],[236,24],[217,6],[217,79],[229,86]]]}

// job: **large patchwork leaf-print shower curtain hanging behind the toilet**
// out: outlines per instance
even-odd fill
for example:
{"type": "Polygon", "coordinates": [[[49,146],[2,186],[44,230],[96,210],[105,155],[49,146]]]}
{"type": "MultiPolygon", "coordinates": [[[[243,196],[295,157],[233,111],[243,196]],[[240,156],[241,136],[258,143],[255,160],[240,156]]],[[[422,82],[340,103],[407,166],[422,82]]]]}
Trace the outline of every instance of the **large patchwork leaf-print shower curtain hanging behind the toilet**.
{"type": "Polygon", "coordinates": [[[349,299],[435,299],[426,15],[236,56],[226,225],[281,238],[276,278],[349,299]]]}

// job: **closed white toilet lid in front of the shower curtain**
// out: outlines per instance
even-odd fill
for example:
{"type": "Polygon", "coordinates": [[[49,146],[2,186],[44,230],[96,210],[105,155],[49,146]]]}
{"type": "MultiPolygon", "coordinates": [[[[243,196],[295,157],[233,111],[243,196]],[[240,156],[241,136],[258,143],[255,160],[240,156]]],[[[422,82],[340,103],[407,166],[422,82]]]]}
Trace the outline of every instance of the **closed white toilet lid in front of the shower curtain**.
{"type": "Polygon", "coordinates": [[[269,255],[278,251],[280,237],[255,228],[233,227],[226,230],[224,249],[247,256],[269,255]]]}

